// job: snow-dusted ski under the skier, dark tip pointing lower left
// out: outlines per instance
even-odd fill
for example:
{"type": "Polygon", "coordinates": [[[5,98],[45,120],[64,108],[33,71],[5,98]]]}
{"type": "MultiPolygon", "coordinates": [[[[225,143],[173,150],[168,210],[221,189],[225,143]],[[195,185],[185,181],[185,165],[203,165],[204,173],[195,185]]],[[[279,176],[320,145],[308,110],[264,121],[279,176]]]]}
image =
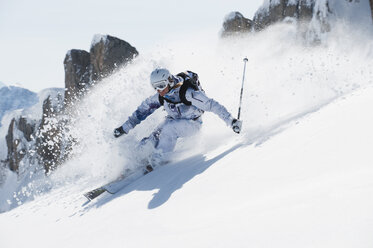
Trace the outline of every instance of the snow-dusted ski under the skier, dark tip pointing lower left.
{"type": "Polygon", "coordinates": [[[140,177],[150,173],[153,171],[151,166],[141,167],[137,170],[133,171],[132,173],[129,172],[127,174],[121,175],[114,181],[111,181],[103,186],[95,188],[83,195],[89,200],[92,201],[93,199],[97,198],[98,196],[102,195],[103,193],[107,192],[109,194],[115,194],[125,188],[126,186],[130,185],[140,177]]]}

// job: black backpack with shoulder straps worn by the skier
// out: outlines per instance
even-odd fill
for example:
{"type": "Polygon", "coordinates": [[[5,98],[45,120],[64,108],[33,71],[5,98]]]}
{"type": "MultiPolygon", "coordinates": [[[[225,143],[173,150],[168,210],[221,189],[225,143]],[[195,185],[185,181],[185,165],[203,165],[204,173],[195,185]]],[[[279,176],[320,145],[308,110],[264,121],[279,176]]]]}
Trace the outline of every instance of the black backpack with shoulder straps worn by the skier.
{"type": "Polygon", "coordinates": [[[186,71],[186,72],[180,72],[176,76],[182,77],[184,79],[183,85],[180,86],[180,91],[179,91],[179,97],[180,97],[180,102],[172,102],[161,95],[159,95],[159,103],[163,106],[164,101],[170,102],[170,103],[184,103],[187,106],[192,105],[190,101],[188,101],[185,97],[185,93],[187,89],[192,88],[196,91],[201,90],[203,91],[201,87],[201,83],[199,82],[198,74],[192,71],[186,71]],[[192,77],[190,77],[190,75],[192,77]]]}

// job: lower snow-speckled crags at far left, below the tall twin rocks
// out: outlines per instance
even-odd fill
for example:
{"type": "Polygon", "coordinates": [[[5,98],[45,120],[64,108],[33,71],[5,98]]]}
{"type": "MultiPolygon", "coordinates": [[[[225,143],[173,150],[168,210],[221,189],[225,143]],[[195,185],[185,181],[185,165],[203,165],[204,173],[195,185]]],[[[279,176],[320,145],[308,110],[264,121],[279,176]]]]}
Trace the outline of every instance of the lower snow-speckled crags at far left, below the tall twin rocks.
{"type": "Polygon", "coordinates": [[[63,99],[48,96],[43,104],[42,120],[30,120],[25,116],[13,118],[5,137],[8,148],[5,164],[11,171],[22,173],[28,164],[38,162],[49,172],[60,161],[61,113],[63,99]],[[24,164],[23,169],[21,165],[24,164]]]}

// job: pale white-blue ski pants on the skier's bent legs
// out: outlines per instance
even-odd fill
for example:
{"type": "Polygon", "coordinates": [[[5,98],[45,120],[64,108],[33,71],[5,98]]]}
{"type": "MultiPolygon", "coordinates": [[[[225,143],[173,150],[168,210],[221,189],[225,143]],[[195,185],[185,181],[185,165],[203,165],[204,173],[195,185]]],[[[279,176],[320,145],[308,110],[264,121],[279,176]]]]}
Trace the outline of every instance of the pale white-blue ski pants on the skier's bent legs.
{"type": "Polygon", "coordinates": [[[166,118],[149,137],[141,140],[139,148],[143,149],[149,144],[153,148],[148,161],[150,165],[166,163],[175,149],[177,139],[195,135],[201,129],[201,124],[201,118],[195,120],[166,118]]]}

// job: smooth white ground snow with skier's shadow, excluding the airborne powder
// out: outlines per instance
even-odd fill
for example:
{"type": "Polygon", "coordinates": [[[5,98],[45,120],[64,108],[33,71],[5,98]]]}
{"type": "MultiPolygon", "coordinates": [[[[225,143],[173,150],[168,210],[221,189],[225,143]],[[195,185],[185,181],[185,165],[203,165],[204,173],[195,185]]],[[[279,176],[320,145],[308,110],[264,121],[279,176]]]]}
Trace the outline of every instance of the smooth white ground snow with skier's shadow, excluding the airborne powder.
{"type": "Polygon", "coordinates": [[[84,185],[40,196],[0,215],[0,245],[372,247],[372,96],[358,90],[88,204],[84,185]]]}

